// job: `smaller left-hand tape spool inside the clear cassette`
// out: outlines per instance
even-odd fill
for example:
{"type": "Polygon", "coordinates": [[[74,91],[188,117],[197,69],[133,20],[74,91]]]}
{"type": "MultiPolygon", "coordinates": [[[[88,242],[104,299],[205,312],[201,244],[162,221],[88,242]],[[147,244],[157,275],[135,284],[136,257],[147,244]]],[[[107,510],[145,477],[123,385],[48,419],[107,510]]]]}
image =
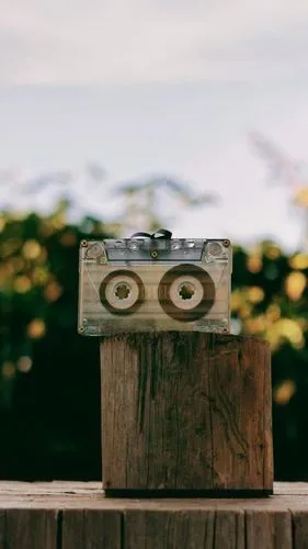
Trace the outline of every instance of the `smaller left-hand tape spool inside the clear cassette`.
{"type": "Polygon", "coordinates": [[[136,313],[145,301],[145,285],[136,272],[125,269],[110,272],[100,287],[102,305],[114,315],[136,313]]]}

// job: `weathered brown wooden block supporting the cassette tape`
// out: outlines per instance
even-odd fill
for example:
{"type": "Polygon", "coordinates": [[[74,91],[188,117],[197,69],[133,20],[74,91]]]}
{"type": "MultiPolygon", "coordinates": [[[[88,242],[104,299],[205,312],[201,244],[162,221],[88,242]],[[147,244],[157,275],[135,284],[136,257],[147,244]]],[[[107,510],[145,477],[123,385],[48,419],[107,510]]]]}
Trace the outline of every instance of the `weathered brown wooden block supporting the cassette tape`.
{"type": "Polygon", "coordinates": [[[266,341],[123,334],[102,340],[101,368],[107,496],[272,494],[266,341]]]}

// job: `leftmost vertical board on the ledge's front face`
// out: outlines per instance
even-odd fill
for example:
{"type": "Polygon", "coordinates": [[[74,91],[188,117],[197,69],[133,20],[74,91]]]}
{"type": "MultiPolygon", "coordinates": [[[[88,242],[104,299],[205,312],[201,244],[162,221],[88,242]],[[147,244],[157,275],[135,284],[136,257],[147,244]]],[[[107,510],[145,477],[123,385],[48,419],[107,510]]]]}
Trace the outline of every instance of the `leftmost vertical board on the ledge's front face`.
{"type": "Polygon", "coordinates": [[[57,517],[54,509],[9,509],[5,548],[57,549],[57,517]]]}

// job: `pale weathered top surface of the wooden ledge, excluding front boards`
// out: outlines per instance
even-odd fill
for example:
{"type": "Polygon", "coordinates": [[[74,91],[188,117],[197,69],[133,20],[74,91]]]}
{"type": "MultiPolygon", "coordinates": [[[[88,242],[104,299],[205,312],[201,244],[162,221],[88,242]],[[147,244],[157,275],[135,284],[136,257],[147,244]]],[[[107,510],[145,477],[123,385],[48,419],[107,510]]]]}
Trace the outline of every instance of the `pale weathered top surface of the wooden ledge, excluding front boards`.
{"type": "MultiPolygon", "coordinates": [[[[267,498],[106,498],[100,483],[0,482],[0,513],[5,509],[102,509],[102,511],[306,511],[307,483],[276,483],[276,495],[267,498]],[[43,485],[42,485],[43,484],[43,485]],[[43,488],[44,486],[44,488],[43,488]],[[46,488],[46,490],[45,490],[46,488]],[[2,509],[2,511],[1,511],[2,509]]],[[[0,515],[1,516],[1,515],[0,515]]],[[[2,515],[3,516],[3,515],[2,515]]]]}

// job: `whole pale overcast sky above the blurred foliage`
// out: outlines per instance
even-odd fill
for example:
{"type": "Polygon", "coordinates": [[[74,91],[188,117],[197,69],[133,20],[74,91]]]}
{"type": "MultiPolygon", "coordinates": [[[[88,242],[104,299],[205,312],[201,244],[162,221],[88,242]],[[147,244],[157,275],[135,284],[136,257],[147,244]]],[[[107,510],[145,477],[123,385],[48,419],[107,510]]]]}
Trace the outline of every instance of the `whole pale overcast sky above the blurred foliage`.
{"type": "Polygon", "coordinates": [[[105,219],[117,181],[167,175],[220,197],[192,211],[161,198],[174,236],[296,247],[301,214],[248,133],[308,163],[307,29],[306,0],[2,0],[0,170],[16,182],[0,208],[49,206],[55,192],[27,199],[22,181],[70,169],[77,211],[105,219]],[[100,198],[90,160],[107,171],[100,198]]]}

